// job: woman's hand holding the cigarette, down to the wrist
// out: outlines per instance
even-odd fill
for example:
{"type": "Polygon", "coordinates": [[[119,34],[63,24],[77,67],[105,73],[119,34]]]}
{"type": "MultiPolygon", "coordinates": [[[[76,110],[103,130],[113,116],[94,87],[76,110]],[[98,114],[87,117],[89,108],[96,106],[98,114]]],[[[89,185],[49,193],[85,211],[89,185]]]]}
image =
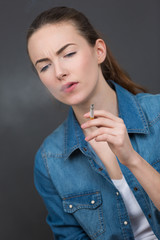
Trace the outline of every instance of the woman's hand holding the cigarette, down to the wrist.
{"type": "MultiPolygon", "coordinates": [[[[86,113],[84,117],[89,118],[90,113],[86,113]]],[[[82,129],[96,127],[85,140],[94,139],[97,142],[107,142],[122,164],[126,166],[132,164],[135,151],[123,120],[103,110],[94,111],[94,117],[94,119],[81,125],[82,129]]]]}

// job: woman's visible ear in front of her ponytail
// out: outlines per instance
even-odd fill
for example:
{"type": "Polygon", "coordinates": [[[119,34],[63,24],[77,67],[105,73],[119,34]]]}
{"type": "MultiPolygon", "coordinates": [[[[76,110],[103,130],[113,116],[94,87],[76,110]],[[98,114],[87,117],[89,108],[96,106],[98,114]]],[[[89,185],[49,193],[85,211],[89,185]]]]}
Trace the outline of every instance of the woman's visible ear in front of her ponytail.
{"type": "Polygon", "coordinates": [[[101,64],[105,60],[107,54],[106,44],[103,39],[96,40],[95,50],[97,54],[98,64],[101,64]]]}

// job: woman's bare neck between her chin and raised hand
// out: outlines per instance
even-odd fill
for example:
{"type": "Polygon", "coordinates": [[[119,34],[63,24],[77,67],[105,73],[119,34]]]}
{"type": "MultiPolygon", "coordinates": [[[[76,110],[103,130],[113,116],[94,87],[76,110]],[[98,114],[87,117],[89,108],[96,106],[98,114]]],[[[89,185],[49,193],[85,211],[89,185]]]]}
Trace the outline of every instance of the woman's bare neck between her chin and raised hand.
{"type": "Polygon", "coordinates": [[[118,116],[118,104],[115,91],[108,85],[106,80],[102,81],[99,90],[86,102],[72,106],[76,118],[80,124],[87,121],[83,115],[90,110],[90,105],[94,104],[95,110],[105,110],[118,116]]]}

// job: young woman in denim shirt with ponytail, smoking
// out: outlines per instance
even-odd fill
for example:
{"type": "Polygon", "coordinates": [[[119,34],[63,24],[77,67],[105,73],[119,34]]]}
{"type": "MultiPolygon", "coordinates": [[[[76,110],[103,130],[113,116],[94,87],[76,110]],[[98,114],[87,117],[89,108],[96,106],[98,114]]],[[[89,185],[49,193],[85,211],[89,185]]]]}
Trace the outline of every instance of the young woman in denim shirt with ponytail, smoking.
{"type": "Polygon", "coordinates": [[[160,95],[129,79],[75,9],[40,14],[27,42],[43,84],[71,106],[34,168],[55,239],[160,239],[160,95]]]}

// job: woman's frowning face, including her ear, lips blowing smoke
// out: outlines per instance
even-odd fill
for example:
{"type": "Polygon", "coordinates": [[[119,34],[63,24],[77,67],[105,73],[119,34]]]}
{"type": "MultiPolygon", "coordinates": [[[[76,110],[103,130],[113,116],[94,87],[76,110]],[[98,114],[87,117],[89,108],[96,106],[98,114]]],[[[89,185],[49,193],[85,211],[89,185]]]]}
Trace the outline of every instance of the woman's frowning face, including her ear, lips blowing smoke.
{"type": "Polygon", "coordinates": [[[103,40],[92,47],[73,24],[46,24],[30,37],[28,51],[41,81],[59,101],[79,105],[97,91],[103,40]]]}

